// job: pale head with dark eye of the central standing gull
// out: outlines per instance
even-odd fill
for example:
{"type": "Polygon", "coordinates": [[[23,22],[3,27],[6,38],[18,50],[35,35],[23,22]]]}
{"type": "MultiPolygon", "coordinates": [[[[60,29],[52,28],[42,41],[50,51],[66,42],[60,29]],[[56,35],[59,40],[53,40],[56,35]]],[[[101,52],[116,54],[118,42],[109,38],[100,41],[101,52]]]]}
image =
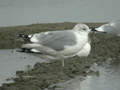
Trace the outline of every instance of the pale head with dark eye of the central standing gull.
{"type": "Polygon", "coordinates": [[[86,24],[77,24],[74,26],[73,30],[78,31],[78,32],[85,32],[85,33],[89,33],[90,29],[86,24]]]}

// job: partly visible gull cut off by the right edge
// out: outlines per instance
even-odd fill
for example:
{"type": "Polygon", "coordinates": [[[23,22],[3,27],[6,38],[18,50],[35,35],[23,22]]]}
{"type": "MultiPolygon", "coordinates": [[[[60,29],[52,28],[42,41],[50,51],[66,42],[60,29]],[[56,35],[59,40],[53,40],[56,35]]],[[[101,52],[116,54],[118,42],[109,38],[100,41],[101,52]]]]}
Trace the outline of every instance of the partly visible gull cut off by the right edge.
{"type": "Polygon", "coordinates": [[[104,32],[111,36],[120,36],[120,21],[113,21],[107,24],[104,24],[98,28],[95,28],[96,31],[104,32]]]}

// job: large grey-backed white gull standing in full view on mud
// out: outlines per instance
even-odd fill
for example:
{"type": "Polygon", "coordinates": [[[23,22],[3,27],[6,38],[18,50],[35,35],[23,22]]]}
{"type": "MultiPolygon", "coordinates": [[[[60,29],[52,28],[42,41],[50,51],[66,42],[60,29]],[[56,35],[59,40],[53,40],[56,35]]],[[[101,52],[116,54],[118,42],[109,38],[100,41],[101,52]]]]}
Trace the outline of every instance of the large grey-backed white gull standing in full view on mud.
{"type": "Polygon", "coordinates": [[[90,31],[87,25],[77,24],[71,30],[48,31],[31,35],[21,34],[20,37],[30,41],[30,43],[22,45],[22,50],[59,56],[63,59],[64,66],[66,57],[89,55],[91,46],[88,34],[90,31]]]}

